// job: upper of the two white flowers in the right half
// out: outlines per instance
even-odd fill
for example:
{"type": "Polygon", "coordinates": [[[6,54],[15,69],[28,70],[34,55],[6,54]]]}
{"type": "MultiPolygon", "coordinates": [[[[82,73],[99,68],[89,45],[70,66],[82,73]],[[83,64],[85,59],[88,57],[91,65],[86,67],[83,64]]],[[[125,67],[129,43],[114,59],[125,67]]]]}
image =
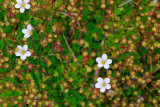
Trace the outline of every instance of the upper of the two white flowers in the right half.
{"type": "Polygon", "coordinates": [[[108,69],[109,64],[112,63],[112,60],[107,59],[107,54],[103,54],[102,58],[100,58],[100,57],[96,58],[96,62],[98,63],[99,68],[104,67],[104,68],[108,69]]]}

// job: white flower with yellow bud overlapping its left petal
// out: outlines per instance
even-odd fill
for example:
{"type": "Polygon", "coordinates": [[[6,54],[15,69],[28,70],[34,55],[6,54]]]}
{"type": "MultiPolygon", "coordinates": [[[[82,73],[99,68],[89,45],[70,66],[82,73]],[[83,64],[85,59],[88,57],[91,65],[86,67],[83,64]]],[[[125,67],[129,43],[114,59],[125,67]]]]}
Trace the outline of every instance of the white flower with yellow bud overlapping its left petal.
{"type": "Polygon", "coordinates": [[[28,46],[24,45],[23,47],[18,45],[15,50],[15,55],[20,56],[21,60],[25,60],[26,57],[31,56],[31,53],[28,50],[28,46]]]}

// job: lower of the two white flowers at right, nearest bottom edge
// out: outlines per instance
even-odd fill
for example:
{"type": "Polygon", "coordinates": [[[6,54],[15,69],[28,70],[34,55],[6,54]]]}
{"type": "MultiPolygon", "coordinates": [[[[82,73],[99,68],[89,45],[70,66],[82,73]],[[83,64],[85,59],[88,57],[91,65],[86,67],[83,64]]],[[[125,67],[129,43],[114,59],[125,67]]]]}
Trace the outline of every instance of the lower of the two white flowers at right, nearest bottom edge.
{"type": "Polygon", "coordinates": [[[95,84],[96,88],[100,88],[100,92],[105,92],[106,89],[111,89],[111,85],[108,84],[110,82],[109,78],[103,78],[98,77],[97,78],[98,83],[95,84]]]}

